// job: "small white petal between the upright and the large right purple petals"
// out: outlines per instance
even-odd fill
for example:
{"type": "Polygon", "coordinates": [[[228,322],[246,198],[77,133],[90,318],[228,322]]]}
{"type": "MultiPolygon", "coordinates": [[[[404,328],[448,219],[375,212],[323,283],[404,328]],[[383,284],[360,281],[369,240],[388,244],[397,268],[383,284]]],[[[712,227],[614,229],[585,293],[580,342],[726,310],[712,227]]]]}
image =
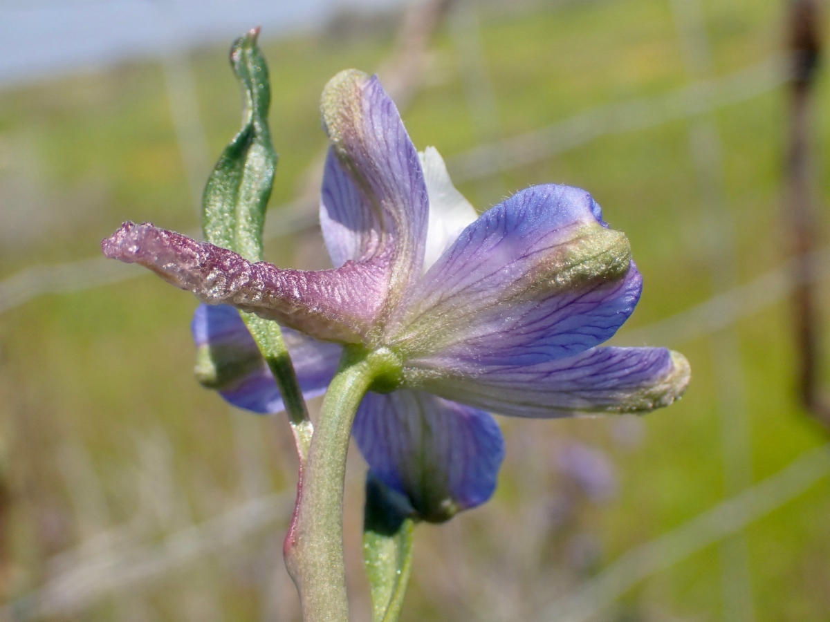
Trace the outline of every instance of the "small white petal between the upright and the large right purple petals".
{"type": "Polygon", "coordinates": [[[418,158],[421,158],[429,196],[427,249],[423,256],[423,271],[426,272],[447,247],[456,241],[458,234],[478,218],[478,214],[464,195],[452,185],[447,165],[436,148],[427,147],[418,152],[418,158]]]}

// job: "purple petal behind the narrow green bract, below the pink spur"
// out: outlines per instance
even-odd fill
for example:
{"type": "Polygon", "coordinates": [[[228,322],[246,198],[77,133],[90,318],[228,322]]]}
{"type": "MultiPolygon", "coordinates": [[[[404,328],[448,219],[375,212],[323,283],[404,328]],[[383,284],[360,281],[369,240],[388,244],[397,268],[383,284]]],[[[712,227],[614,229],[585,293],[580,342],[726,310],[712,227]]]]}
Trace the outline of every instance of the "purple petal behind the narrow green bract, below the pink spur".
{"type": "MultiPolygon", "coordinates": [[[[237,309],[227,304],[201,304],[193,316],[191,328],[196,346],[200,350],[209,348],[214,367],[224,368],[220,374],[223,381],[215,387],[222,397],[237,408],[261,414],[285,410],[271,370],[237,309]],[[238,361],[251,359],[255,365],[238,366],[238,361]]],[[[291,328],[283,328],[282,335],[305,399],[323,395],[337,370],[341,348],[335,343],[316,341],[291,328]]]]}

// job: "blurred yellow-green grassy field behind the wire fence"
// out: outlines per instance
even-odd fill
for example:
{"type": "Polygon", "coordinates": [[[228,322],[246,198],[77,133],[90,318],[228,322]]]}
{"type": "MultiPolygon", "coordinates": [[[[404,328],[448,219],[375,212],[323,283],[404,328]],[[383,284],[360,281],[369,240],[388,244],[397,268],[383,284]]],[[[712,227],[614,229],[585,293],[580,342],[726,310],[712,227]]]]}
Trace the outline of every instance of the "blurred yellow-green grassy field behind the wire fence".
{"type": "MultiPolygon", "coordinates": [[[[773,0],[705,2],[714,75],[779,53],[784,8],[773,0]]],[[[435,145],[451,165],[482,139],[657,96],[694,77],[668,0],[490,5],[477,16],[477,61],[496,104],[489,125],[476,121],[465,82],[469,59],[452,20],[439,28],[425,83],[403,113],[417,147],[435,145]]],[[[263,34],[280,153],[271,217],[302,191],[305,170],[325,145],[317,112],[325,82],[351,66],[374,70],[390,53],[393,29],[356,32],[280,41],[263,34]]],[[[190,60],[215,158],[237,129],[239,92],[227,46],[193,51],[190,60]]],[[[741,282],[781,265],[789,253],[785,95],[782,86],[704,115],[723,144],[718,170],[723,205],[735,223],[741,282]]],[[[814,112],[823,205],[830,199],[824,76],[814,112]]],[[[710,206],[703,204],[690,147],[690,127],[700,120],[598,136],[459,188],[482,211],[533,183],[592,192],[606,219],[631,240],[644,277],[637,312],[618,337],[624,343],[627,331],[713,294],[710,206]]],[[[0,215],[0,279],[32,265],[95,257],[101,238],[121,221],[198,229],[159,63],[0,91],[0,215]]],[[[824,231],[819,238],[827,239],[824,231]]],[[[267,252],[274,263],[300,268],[320,265],[325,253],[316,231],[276,237],[267,252]]],[[[31,594],[73,564],[115,559],[136,547],[164,552],[170,534],[252,498],[291,494],[295,458],[286,421],[232,411],[193,379],[189,322],[196,304],[147,275],[41,295],[0,316],[2,477],[9,490],[0,522],[0,589],[7,600],[31,594]]],[[[795,398],[787,301],[740,318],[735,331],[757,482],[827,435],[795,398]]],[[[648,344],[684,352],[693,381],[680,403],[642,420],[500,419],[508,455],[496,497],[442,527],[418,528],[403,620],[537,620],[558,595],[632,547],[725,499],[724,455],[740,439],[723,432],[722,419],[732,413],[720,412],[717,338],[648,344]],[[591,499],[574,488],[558,456],[577,442],[602,449],[613,463],[615,493],[591,499]]],[[[369,619],[359,550],[363,478],[354,451],[346,530],[355,620],[369,619]]],[[[281,561],[284,529],[285,519],[277,519],[50,619],[299,620],[281,561]]],[[[830,619],[828,479],[743,533],[754,620],[830,619]]],[[[591,620],[725,620],[724,592],[729,600],[735,588],[722,572],[723,551],[706,546],[647,576],[591,620]]],[[[129,558],[122,564],[105,566],[103,576],[129,570],[129,558]]],[[[81,581],[67,589],[86,588],[81,581]]]]}

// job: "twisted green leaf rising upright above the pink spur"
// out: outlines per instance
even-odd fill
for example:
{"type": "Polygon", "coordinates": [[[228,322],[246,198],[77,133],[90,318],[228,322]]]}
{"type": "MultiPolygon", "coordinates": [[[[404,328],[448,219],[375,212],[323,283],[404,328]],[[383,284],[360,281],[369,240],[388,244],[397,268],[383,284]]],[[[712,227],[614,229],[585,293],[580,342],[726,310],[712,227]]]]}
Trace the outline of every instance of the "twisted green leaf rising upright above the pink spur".
{"type": "Polygon", "coordinates": [[[262,227],[276,172],[276,152],[268,129],[271,85],[265,56],[256,46],[259,29],[234,41],[231,66],[245,95],[242,129],[219,158],[207,180],[202,224],[211,244],[261,261],[262,227]]]}

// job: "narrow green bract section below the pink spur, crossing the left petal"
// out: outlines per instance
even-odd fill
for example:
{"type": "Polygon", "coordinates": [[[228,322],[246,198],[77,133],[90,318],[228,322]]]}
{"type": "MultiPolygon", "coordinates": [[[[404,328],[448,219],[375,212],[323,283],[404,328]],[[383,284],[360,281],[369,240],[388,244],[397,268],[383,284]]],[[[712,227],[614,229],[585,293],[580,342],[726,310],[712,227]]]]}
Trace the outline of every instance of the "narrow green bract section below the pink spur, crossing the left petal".
{"type": "Polygon", "coordinates": [[[294,364],[288,355],[286,342],[282,338],[282,331],[279,324],[271,320],[260,318],[253,313],[240,313],[242,319],[256,345],[262,352],[262,357],[271,368],[274,374],[276,386],[280,388],[282,401],[286,405],[288,421],[291,424],[291,432],[294,435],[294,442],[297,446],[297,454],[300,457],[300,470],[305,465],[311,445],[311,435],[314,426],[311,425],[308,409],[305,407],[303,392],[300,389],[300,382],[297,381],[297,374],[294,371],[294,364]]]}

